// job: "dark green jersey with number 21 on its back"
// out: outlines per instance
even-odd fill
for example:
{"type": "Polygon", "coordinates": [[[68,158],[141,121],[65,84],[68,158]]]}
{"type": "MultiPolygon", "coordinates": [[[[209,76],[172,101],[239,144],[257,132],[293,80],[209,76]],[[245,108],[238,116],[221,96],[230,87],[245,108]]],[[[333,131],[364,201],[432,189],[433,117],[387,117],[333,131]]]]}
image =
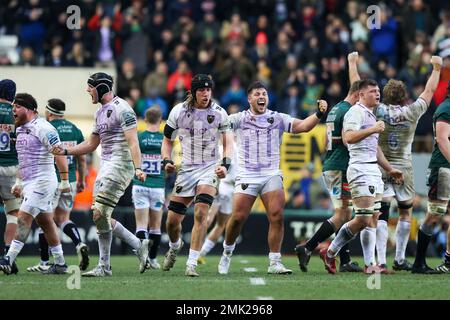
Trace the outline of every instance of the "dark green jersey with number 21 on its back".
{"type": "Polygon", "coordinates": [[[134,185],[148,188],[164,188],[164,170],[161,166],[163,138],[164,136],[160,132],[144,131],[138,135],[142,155],[141,168],[147,174],[147,179],[145,179],[145,182],[141,182],[134,177],[134,185]]]}

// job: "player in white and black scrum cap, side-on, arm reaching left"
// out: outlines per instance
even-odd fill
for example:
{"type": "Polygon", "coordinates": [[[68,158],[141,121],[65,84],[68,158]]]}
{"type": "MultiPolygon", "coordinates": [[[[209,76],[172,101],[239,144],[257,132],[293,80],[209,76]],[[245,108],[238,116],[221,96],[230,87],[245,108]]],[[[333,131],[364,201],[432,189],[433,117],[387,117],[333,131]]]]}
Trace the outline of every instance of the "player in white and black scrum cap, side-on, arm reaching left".
{"type": "Polygon", "coordinates": [[[102,148],[102,162],[94,184],[93,220],[98,232],[99,264],[85,272],[85,277],[111,276],[112,236],[128,243],[139,258],[139,271],[145,271],[149,240],[142,242],[119,221],[111,218],[114,208],[131,182],[133,175],[145,181],[141,169],[141,151],[137,138],[136,114],[129,104],[114,95],[113,79],[97,72],[89,77],[87,92],[92,103],[101,103],[94,116],[94,128],[84,142],[67,148],[55,148],[59,155],[83,155],[102,148]]]}

